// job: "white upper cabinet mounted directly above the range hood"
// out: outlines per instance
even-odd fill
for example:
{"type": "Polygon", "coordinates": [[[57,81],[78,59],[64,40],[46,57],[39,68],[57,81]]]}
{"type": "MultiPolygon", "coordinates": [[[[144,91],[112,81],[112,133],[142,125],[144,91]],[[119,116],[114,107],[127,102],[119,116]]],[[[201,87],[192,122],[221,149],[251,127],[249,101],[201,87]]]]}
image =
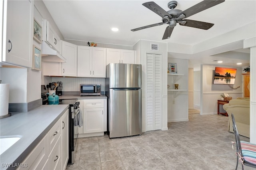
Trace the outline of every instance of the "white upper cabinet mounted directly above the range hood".
{"type": "Polygon", "coordinates": [[[47,20],[44,20],[44,41],[60,52],[60,38],[47,20]]]}

